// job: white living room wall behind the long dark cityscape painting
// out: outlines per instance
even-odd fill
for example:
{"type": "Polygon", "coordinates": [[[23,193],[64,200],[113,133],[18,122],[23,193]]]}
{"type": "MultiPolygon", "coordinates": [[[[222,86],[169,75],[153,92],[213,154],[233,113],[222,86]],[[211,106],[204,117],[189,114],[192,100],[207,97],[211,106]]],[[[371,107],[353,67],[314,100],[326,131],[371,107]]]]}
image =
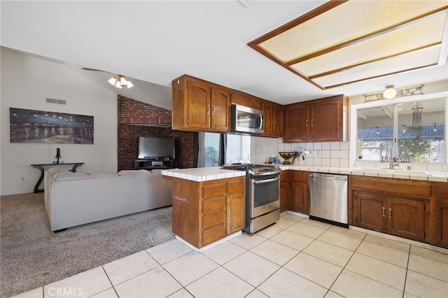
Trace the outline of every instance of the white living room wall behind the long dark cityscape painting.
{"type": "Polygon", "coordinates": [[[40,171],[30,164],[52,163],[56,148],[64,162],[85,162],[78,172],[116,172],[117,94],[64,64],[2,48],[0,134],[2,195],[33,192],[40,171]],[[46,98],[66,105],[48,104],[46,98]],[[94,144],[10,143],[9,108],[94,116],[94,144]]]}

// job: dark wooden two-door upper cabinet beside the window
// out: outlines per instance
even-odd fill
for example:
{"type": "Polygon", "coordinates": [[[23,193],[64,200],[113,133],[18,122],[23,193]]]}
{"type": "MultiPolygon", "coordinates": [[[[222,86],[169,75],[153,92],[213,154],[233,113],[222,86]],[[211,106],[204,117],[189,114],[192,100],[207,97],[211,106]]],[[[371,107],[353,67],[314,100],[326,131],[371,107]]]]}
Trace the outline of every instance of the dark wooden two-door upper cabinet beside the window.
{"type": "Polygon", "coordinates": [[[283,109],[283,142],[346,141],[347,97],[290,104],[283,109]]]}

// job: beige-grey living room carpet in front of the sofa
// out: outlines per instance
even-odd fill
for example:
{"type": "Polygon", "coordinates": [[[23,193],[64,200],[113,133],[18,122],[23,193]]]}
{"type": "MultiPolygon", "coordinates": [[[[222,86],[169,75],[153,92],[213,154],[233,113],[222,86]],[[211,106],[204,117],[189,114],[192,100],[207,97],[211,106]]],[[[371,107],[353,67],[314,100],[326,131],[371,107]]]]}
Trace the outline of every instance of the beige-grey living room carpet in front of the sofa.
{"type": "Polygon", "coordinates": [[[50,231],[43,193],[0,197],[0,297],[101,266],[174,239],[172,207],[50,231]]]}

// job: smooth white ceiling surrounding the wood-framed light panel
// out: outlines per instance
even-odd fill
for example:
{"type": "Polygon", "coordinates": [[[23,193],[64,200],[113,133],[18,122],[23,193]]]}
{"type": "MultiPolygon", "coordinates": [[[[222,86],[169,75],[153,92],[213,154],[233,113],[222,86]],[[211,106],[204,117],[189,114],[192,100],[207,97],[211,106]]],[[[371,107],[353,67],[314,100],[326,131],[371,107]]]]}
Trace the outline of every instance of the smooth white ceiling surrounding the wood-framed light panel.
{"type": "Polygon", "coordinates": [[[280,104],[448,79],[445,48],[444,65],[322,90],[248,46],[326,2],[1,1],[1,45],[64,62],[104,87],[113,88],[110,73],[81,67],[125,75],[135,86],[114,91],[157,106],[171,104],[171,81],[184,73],[280,104]]]}

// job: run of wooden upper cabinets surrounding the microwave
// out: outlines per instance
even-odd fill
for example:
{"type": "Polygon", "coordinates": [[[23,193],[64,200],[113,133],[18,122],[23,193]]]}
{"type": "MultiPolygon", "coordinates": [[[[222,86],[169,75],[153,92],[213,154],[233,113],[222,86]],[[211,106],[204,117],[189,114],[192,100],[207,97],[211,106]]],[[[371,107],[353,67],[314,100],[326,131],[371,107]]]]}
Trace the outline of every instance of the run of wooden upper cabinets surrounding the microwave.
{"type": "Polygon", "coordinates": [[[281,136],[283,106],[199,78],[183,75],[172,81],[172,129],[230,132],[231,106],[265,111],[263,136],[281,136]]]}

